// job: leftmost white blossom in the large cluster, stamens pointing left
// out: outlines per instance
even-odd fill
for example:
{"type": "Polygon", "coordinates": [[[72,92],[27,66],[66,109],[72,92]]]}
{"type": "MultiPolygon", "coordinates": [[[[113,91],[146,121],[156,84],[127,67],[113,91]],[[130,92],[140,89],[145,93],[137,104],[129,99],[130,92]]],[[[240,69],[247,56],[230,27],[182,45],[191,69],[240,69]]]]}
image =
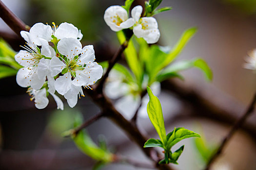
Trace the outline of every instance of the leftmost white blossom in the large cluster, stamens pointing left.
{"type": "MultiPolygon", "coordinates": [[[[36,90],[42,87],[46,80],[46,75],[50,75],[48,65],[52,56],[56,55],[47,40],[40,38],[44,37],[43,35],[38,34],[36,36],[35,28],[38,28],[38,25],[44,27],[43,24],[38,23],[30,29],[29,33],[25,31],[20,32],[21,36],[27,41],[27,46],[21,46],[24,50],[20,50],[15,55],[15,60],[24,67],[18,71],[17,83],[22,87],[31,86],[36,90]],[[41,49],[38,46],[41,46],[41,49]],[[21,72],[22,74],[20,74],[21,72]],[[25,72],[26,75],[24,76],[23,73],[25,72]]],[[[46,30],[46,28],[43,30],[46,30]]],[[[45,34],[48,34],[48,31],[45,32],[45,34]]],[[[49,80],[52,81],[51,78],[49,80]]]]}

